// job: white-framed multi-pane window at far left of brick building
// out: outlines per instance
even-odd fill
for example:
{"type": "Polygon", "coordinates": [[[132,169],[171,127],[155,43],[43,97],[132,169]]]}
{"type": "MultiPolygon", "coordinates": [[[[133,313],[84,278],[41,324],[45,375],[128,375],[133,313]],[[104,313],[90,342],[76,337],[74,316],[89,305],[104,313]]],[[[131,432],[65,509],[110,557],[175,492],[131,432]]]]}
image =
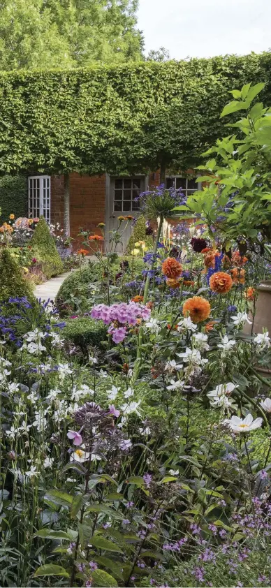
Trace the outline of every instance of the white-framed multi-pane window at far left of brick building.
{"type": "Polygon", "coordinates": [[[51,178],[50,175],[31,175],[28,178],[28,216],[35,219],[44,216],[50,223],[51,178]]]}

